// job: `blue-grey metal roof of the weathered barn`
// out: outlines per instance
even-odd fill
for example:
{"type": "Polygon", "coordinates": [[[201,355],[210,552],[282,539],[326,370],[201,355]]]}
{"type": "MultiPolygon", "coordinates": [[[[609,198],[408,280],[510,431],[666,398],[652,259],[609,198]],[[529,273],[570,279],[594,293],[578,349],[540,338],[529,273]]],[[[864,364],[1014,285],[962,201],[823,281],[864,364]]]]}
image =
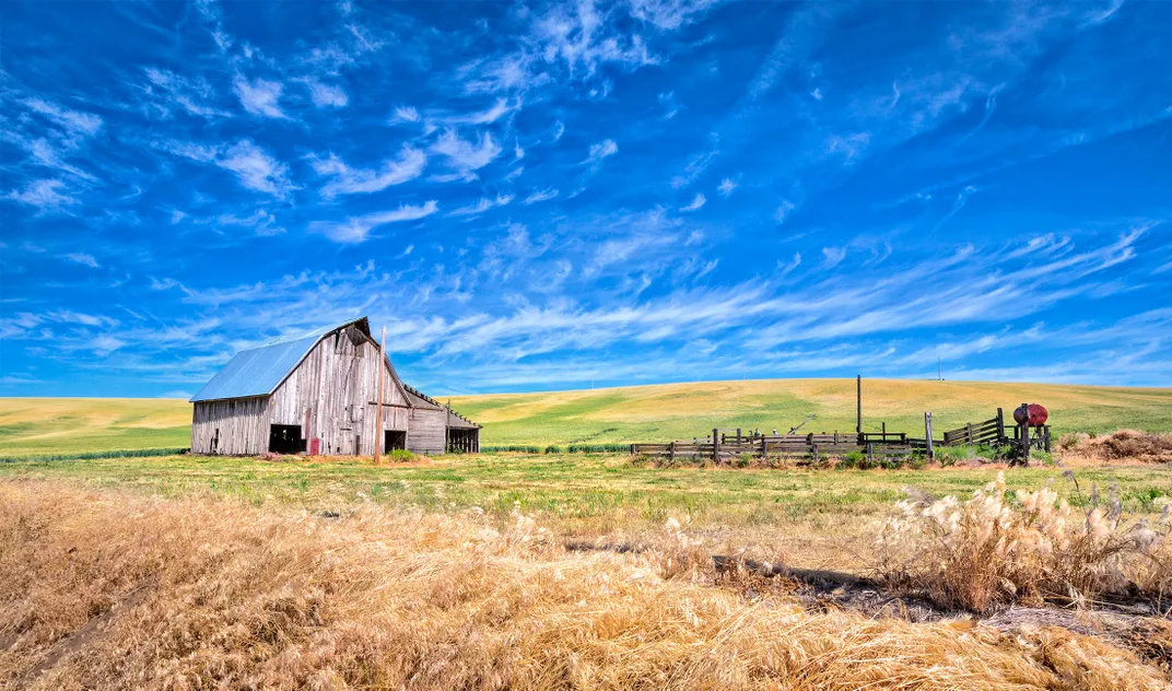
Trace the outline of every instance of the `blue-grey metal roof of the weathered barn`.
{"type": "Polygon", "coordinates": [[[191,397],[191,403],[267,396],[277,390],[277,386],[309,354],[309,350],[316,346],[322,336],[350,324],[357,324],[368,335],[370,333],[366,317],[361,317],[316,329],[308,334],[278,338],[260,348],[241,350],[191,397]]]}

